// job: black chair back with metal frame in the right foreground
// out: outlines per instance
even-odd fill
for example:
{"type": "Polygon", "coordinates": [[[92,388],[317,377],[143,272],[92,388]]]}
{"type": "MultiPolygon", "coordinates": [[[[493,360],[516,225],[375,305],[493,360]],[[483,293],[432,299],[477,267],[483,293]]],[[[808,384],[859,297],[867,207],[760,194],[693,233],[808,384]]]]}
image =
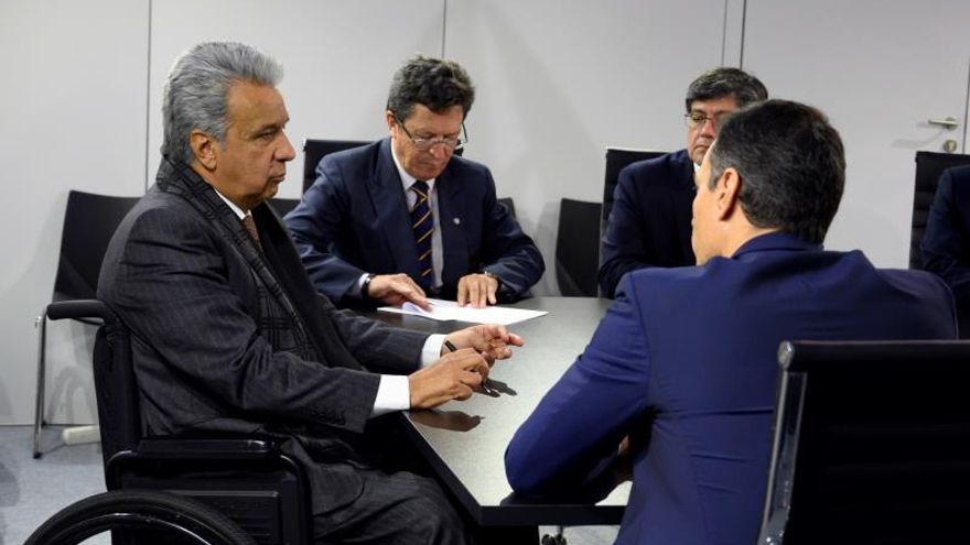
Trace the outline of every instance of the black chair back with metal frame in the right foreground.
{"type": "Polygon", "coordinates": [[[758,543],[970,537],[970,342],[784,342],[758,543]]]}

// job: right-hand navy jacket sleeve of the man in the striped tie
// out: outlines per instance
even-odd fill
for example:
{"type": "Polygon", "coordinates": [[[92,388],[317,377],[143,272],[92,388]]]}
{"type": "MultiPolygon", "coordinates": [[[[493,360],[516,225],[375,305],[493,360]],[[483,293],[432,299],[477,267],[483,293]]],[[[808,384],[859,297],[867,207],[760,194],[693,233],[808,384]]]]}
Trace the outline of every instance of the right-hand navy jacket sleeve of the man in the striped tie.
{"type": "Polygon", "coordinates": [[[502,279],[499,296],[514,301],[530,288],[546,272],[546,262],[536,242],[522,232],[508,209],[495,196],[495,181],[488,173],[485,195],[482,258],[484,270],[502,279]]]}

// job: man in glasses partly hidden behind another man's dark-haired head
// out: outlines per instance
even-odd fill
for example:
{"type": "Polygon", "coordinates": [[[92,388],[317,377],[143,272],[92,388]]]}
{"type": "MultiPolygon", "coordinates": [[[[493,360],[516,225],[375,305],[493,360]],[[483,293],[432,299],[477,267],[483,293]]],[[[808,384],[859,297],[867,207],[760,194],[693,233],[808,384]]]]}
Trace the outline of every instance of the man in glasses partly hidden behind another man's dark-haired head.
{"type": "Polygon", "coordinates": [[[613,297],[624,274],[646,266],[687,266],[694,171],[718,137],[724,117],[768,91],[739,68],[701,74],[687,89],[687,148],[633,163],[619,172],[613,210],[603,235],[600,288],[613,297]]]}

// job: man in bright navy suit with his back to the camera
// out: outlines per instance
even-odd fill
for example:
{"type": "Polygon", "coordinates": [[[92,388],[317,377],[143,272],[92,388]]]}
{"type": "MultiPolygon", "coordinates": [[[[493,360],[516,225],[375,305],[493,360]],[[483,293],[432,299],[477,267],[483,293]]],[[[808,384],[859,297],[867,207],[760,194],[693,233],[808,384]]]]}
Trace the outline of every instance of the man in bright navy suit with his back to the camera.
{"type": "Polygon", "coordinates": [[[513,489],[561,497],[622,467],[633,488],[617,543],[754,543],[778,345],[956,337],[935,275],[822,249],[844,171],[818,110],[768,100],[726,120],[697,175],[698,266],[626,275],[509,444],[513,489]]]}

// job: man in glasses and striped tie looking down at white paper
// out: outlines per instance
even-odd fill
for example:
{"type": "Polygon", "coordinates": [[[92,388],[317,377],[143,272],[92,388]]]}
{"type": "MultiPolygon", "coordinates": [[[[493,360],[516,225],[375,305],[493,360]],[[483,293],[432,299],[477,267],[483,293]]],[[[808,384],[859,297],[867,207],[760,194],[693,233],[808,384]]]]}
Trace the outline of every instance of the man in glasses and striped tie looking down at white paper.
{"type": "Polygon", "coordinates": [[[492,173],[455,156],[475,90],[457,63],[417,56],[395,74],[389,138],[325,156],[287,216],[316,290],[341,305],[483,307],[528,294],[546,269],[498,203],[492,173]]]}

